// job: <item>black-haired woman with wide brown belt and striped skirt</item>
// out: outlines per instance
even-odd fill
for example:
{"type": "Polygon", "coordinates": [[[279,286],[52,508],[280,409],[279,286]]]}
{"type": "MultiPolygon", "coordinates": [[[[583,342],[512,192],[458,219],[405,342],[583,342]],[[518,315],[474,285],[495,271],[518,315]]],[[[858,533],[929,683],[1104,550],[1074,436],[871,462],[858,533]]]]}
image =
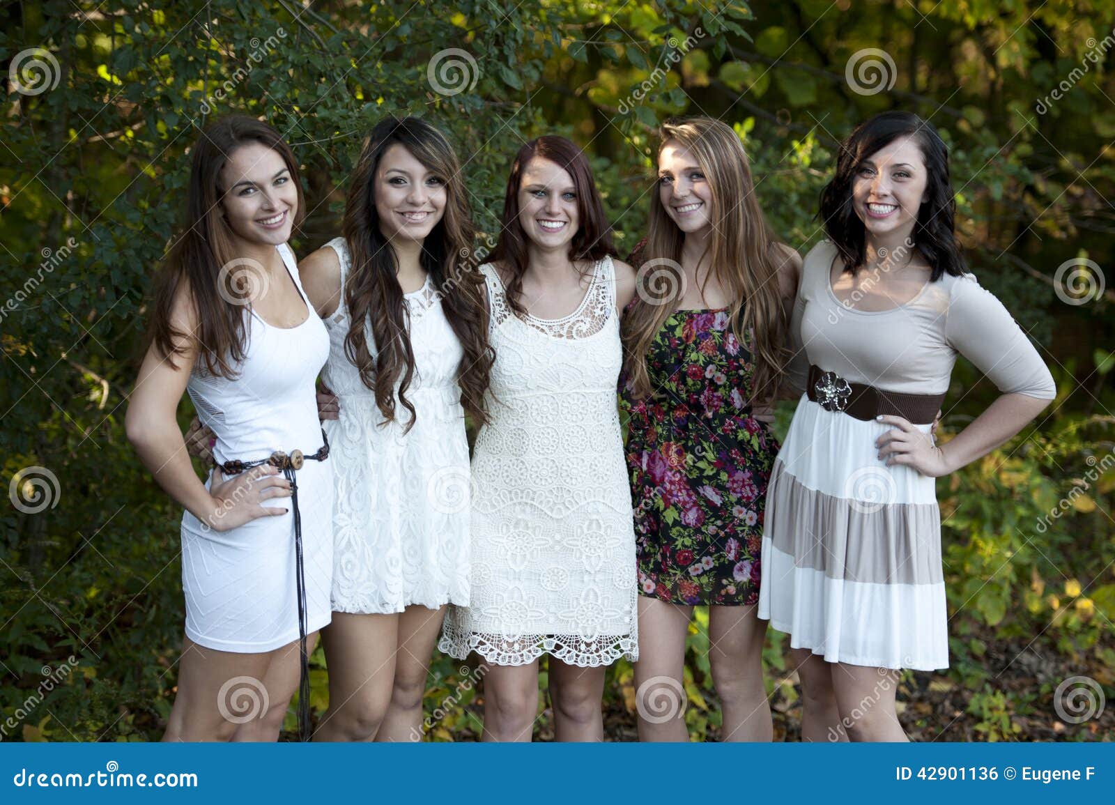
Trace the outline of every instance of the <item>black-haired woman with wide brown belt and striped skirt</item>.
{"type": "Polygon", "coordinates": [[[856,128],[821,215],[831,240],[805,258],[791,322],[795,385],[813,365],[816,399],[802,397],[772,473],[759,615],[789,633],[804,739],[905,740],[898,669],[949,663],[934,478],[1015,436],[1055,389],[1026,333],[964,272],[948,152],[928,122],[891,111],[856,128]],[[958,353],[1001,396],[938,447],[928,420],[958,353]],[[910,398],[892,410],[922,424],[853,416],[845,381],[918,396],[921,414],[910,398]]]}

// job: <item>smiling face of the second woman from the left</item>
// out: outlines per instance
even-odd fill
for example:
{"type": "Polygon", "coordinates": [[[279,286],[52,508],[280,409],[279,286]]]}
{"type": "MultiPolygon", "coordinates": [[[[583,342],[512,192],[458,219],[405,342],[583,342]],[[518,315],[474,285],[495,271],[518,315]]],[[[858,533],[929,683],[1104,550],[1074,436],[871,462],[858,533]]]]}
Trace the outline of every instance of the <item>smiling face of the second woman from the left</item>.
{"type": "Polygon", "coordinates": [[[424,241],[445,213],[445,177],[399,143],[380,157],[374,193],[379,231],[389,241],[424,241]]]}

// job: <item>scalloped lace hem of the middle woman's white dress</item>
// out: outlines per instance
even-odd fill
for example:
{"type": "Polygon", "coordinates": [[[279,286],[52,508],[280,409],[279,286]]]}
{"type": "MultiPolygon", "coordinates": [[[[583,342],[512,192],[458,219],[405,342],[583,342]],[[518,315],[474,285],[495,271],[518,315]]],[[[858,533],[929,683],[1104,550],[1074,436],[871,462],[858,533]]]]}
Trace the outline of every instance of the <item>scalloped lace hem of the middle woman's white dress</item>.
{"type": "Polygon", "coordinates": [[[457,632],[447,629],[437,641],[438,651],[457,660],[475,651],[495,666],[525,666],[527,662],[550,654],[562,662],[581,668],[610,666],[624,658],[634,662],[639,659],[639,641],[633,634],[600,636],[586,638],[582,634],[488,634],[483,632],[457,632]],[[452,632],[452,633],[450,633],[452,632]]]}

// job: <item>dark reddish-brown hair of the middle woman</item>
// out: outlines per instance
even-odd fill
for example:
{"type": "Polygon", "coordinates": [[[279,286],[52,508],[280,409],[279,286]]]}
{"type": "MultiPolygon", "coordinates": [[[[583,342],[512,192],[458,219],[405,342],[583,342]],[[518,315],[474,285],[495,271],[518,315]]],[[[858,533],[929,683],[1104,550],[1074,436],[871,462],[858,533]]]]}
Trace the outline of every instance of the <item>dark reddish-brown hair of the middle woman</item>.
{"type": "Polygon", "coordinates": [[[523,182],[523,172],[534,157],[560,165],[573,178],[580,223],[576,234],[569,244],[569,259],[597,261],[605,255],[615,254],[611,226],[608,224],[608,216],[604,215],[604,204],[600,200],[597,183],[592,178],[592,168],[584,153],[565,137],[545,135],[532,139],[518,149],[515,162],[512,163],[507,190],[503,197],[500,241],[489,258],[491,262],[500,262],[510,271],[507,303],[518,314],[526,313],[520,295],[523,292],[523,274],[527,264],[526,234],[518,223],[518,188],[523,182]]]}

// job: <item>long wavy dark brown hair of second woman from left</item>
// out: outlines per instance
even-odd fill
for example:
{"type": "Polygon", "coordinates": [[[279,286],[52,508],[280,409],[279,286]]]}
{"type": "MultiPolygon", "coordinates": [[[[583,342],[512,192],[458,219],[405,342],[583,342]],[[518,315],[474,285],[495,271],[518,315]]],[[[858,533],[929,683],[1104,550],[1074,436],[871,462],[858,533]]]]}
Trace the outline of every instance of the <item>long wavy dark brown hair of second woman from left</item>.
{"type": "Polygon", "coordinates": [[[352,172],[342,224],[352,256],[352,269],[345,281],[350,321],[345,353],[360,372],[363,385],[375,392],[376,406],[388,421],[396,418],[395,385],[399,382],[398,402],[410,413],[406,426],[409,430],[415,423],[415,408],[406,392],[414,379],[415,356],[395,248],[380,231],[376,213],[376,173],[384,152],[396,143],[445,182],[445,212],[423,243],[421,264],[464,350],[457,367],[460,404],[478,426],[487,421],[484,394],[494,359],[487,340],[484,277],[466,260],[473,248],[474,229],[457,155],[445,135],[417,117],[388,117],[378,123],[365,140],[352,172]],[[368,346],[366,322],[371,326],[375,358],[368,346]]]}

